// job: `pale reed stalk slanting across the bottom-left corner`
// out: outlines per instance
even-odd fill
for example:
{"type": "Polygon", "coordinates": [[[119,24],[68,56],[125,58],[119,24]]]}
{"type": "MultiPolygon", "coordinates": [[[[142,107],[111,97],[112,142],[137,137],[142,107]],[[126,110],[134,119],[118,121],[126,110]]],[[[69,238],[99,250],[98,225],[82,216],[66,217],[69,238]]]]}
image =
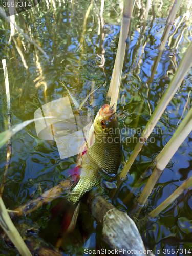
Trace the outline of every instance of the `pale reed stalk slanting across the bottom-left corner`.
{"type": "Polygon", "coordinates": [[[22,256],[32,256],[31,252],[27,248],[27,245],[25,244],[24,240],[20,236],[19,232],[15,228],[13,222],[11,221],[11,218],[9,217],[9,214],[7,212],[7,209],[5,207],[5,204],[0,197],[0,226],[4,230],[4,232],[7,234],[11,242],[16,246],[18,251],[22,256]]]}

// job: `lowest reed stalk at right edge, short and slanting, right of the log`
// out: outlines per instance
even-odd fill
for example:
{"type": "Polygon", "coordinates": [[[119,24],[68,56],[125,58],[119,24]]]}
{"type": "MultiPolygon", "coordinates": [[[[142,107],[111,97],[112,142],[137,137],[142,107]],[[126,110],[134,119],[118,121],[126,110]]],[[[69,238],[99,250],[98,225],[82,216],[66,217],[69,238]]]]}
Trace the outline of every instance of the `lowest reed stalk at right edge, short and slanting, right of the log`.
{"type": "Polygon", "coordinates": [[[174,200],[176,200],[185,190],[192,186],[192,177],[183,182],[183,184],[178,187],[172,195],[170,195],[163,203],[161,203],[157,208],[150,212],[144,219],[138,222],[138,226],[141,227],[146,224],[150,219],[154,219],[160,212],[165,210],[174,200]]]}

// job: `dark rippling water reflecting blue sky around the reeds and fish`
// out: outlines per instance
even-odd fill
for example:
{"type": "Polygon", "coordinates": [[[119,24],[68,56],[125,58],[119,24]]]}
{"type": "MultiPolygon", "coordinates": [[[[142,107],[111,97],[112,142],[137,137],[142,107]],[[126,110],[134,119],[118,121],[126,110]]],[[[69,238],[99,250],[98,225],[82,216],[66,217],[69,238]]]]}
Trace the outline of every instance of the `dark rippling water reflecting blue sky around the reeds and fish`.
{"type": "MultiPolygon", "coordinates": [[[[86,98],[93,81],[97,88],[100,84],[104,84],[107,78],[106,86],[100,87],[95,92],[93,101],[95,113],[105,103],[117,51],[120,18],[106,1],[103,13],[104,40],[101,44],[100,21],[95,5],[92,6],[86,22],[86,29],[83,32],[84,17],[89,4],[83,0],[72,1],[72,3],[58,1],[54,7],[53,4],[48,3],[47,6],[46,2],[41,2],[38,8],[24,12],[19,17],[16,16],[17,23],[25,32],[28,31],[30,36],[44,49],[49,60],[22,36],[18,37],[17,35],[18,46],[22,50],[26,63],[24,60],[22,61],[14,43],[11,42],[11,45],[8,45],[9,25],[3,19],[0,20],[0,56],[1,59],[5,58],[7,61],[12,123],[14,125],[32,119],[35,110],[41,105],[68,96],[66,89],[59,83],[59,79],[69,84],[70,92],[81,103],[86,98]],[[103,56],[104,66],[100,67],[103,56]]],[[[100,8],[100,2],[96,2],[96,5],[100,8]]],[[[136,2],[131,23],[131,41],[126,52],[117,105],[120,129],[124,128],[126,131],[122,134],[125,140],[120,170],[133,151],[139,135],[160,101],[192,39],[192,21],[190,17],[186,22],[187,3],[183,3],[176,16],[171,31],[172,35],[169,36],[153,82],[147,84],[148,78],[151,77],[154,59],[158,54],[169,2],[164,1],[162,6],[160,2],[155,4],[155,17],[150,10],[140,41],[143,11],[138,6],[139,4],[136,2]],[[126,141],[127,136],[131,139],[126,141]]],[[[121,3],[116,1],[114,8],[120,13],[121,3]]],[[[7,129],[3,69],[0,70],[0,76],[2,81],[0,84],[0,131],[2,132],[7,129]]],[[[182,113],[183,119],[190,109],[191,87],[192,70],[188,72],[179,90],[167,106],[155,127],[154,134],[143,146],[128,174],[128,179],[123,182],[118,196],[112,200],[118,209],[131,211],[134,197],[126,205],[122,201],[146,167],[172,137],[182,113]]],[[[139,219],[156,208],[191,176],[191,139],[190,133],[165,168],[150,195],[150,205],[143,208],[139,219]]],[[[69,176],[68,170],[75,166],[76,156],[61,160],[56,142],[39,139],[34,123],[29,124],[13,136],[12,147],[9,176],[3,198],[9,209],[29,201],[31,194],[33,194],[33,198],[36,198],[42,192],[57,185],[62,179],[65,180],[69,176]]],[[[1,148],[1,178],[6,154],[7,148],[4,146],[1,148]]],[[[100,191],[108,195],[114,185],[103,183],[101,187],[100,191]],[[104,187],[105,190],[101,187],[104,187]]],[[[135,193],[135,196],[143,190],[143,187],[135,193]]],[[[20,218],[20,220],[36,223],[39,227],[39,236],[53,245],[57,240],[62,222],[62,218],[50,220],[50,209],[56,202],[44,205],[33,214],[20,218]]],[[[154,221],[141,228],[140,233],[145,246],[154,252],[161,249],[161,255],[163,255],[162,249],[189,249],[192,239],[191,214],[192,199],[191,189],[189,189],[154,221]]],[[[82,204],[75,232],[70,237],[63,238],[63,254],[82,255],[84,248],[100,249],[102,248],[100,236],[101,227],[96,225],[94,219],[88,214],[86,206],[82,204]]],[[[2,255],[17,254],[14,248],[7,246],[3,241],[1,253],[2,255]]],[[[176,254],[176,251],[174,253],[172,255],[179,255],[176,254]]],[[[185,251],[183,255],[186,255],[185,251]]]]}

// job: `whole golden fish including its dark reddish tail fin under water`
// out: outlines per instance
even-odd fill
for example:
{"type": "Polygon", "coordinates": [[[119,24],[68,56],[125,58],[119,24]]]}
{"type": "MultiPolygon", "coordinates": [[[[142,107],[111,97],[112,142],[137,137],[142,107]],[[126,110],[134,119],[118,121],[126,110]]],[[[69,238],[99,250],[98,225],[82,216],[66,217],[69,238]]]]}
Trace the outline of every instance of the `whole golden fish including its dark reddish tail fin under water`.
{"type": "Polygon", "coordinates": [[[110,180],[118,172],[122,157],[122,143],[118,117],[110,105],[105,104],[98,111],[88,139],[80,152],[77,157],[77,166],[70,172],[76,185],[67,198],[52,209],[54,216],[63,216],[62,234],[73,232],[82,196],[98,186],[102,179],[110,180]],[[75,182],[77,180],[78,182],[75,182]]]}

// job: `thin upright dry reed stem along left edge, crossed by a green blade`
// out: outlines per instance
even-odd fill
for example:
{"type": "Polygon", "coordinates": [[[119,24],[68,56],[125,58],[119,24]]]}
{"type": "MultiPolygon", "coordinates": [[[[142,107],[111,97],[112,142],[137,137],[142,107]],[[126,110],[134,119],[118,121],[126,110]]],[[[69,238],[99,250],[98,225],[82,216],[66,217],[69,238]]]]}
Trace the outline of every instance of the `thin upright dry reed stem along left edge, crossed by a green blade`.
{"type": "MultiPolygon", "coordinates": [[[[11,129],[11,103],[10,103],[10,93],[9,93],[9,79],[8,79],[8,72],[7,72],[7,65],[6,60],[2,60],[3,70],[4,70],[4,78],[5,78],[5,89],[6,89],[6,97],[7,97],[7,121],[8,121],[8,129],[11,129]]],[[[9,165],[11,161],[11,154],[12,154],[12,146],[11,146],[11,138],[8,140],[7,145],[7,159],[5,164],[4,176],[2,179],[2,183],[0,186],[0,196],[3,197],[4,187],[7,181],[7,176],[9,173],[9,165]]]]}

